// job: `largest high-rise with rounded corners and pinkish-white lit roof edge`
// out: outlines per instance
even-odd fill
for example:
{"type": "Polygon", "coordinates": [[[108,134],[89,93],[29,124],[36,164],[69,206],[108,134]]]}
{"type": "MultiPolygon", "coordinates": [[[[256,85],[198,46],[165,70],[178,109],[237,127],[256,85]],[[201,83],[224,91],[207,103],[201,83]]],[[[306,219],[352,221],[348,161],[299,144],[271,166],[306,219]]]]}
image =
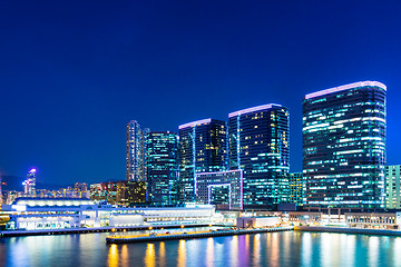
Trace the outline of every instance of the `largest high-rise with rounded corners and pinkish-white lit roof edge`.
{"type": "Polygon", "coordinates": [[[385,166],[385,93],[363,81],[303,99],[303,176],[311,209],[380,208],[385,166]]]}

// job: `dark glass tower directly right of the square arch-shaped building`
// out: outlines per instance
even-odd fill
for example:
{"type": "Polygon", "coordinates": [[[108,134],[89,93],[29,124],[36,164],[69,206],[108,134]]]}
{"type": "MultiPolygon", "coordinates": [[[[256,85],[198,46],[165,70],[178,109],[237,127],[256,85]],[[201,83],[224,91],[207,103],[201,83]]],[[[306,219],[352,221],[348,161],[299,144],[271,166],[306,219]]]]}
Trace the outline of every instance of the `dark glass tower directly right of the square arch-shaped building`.
{"type": "Polygon", "coordinates": [[[244,206],[275,208],[287,201],[290,113],[264,105],[228,115],[229,168],[244,170],[244,206]]]}

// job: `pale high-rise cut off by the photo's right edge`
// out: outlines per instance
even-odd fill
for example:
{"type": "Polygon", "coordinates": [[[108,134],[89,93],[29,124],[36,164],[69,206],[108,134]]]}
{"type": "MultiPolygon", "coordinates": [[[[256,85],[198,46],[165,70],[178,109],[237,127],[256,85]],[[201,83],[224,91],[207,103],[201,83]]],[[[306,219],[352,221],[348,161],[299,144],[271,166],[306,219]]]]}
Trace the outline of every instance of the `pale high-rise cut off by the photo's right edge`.
{"type": "Polygon", "coordinates": [[[401,209],[401,165],[385,166],[385,208],[401,209]]]}

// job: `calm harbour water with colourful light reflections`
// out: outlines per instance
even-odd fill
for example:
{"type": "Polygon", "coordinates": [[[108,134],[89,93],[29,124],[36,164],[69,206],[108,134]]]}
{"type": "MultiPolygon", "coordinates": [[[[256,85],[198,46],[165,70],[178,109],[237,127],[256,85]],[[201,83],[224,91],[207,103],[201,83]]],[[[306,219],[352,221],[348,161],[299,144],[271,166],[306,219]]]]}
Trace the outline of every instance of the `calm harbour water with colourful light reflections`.
{"type": "Polygon", "coordinates": [[[2,238],[0,266],[401,266],[401,237],[281,231],[107,245],[108,235],[2,238]]]}

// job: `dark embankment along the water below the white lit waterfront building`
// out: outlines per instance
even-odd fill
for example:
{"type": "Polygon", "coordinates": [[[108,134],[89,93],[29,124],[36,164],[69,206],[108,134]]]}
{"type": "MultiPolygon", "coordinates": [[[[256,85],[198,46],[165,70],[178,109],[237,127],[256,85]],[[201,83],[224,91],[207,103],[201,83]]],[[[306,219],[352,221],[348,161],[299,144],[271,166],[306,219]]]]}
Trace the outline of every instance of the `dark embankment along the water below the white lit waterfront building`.
{"type": "MultiPolygon", "coordinates": [[[[205,227],[208,224],[185,225],[186,228],[205,227]]],[[[182,225],[143,225],[130,227],[92,227],[92,228],[65,228],[65,229],[40,229],[40,230],[3,230],[0,231],[0,237],[17,237],[17,236],[47,236],[47,235],[72,235],[72,234],[88,234],[88,233],[105,233],[105,231],[136,231],[149,229],[173,229],[182,228],[182,225]]]]}

